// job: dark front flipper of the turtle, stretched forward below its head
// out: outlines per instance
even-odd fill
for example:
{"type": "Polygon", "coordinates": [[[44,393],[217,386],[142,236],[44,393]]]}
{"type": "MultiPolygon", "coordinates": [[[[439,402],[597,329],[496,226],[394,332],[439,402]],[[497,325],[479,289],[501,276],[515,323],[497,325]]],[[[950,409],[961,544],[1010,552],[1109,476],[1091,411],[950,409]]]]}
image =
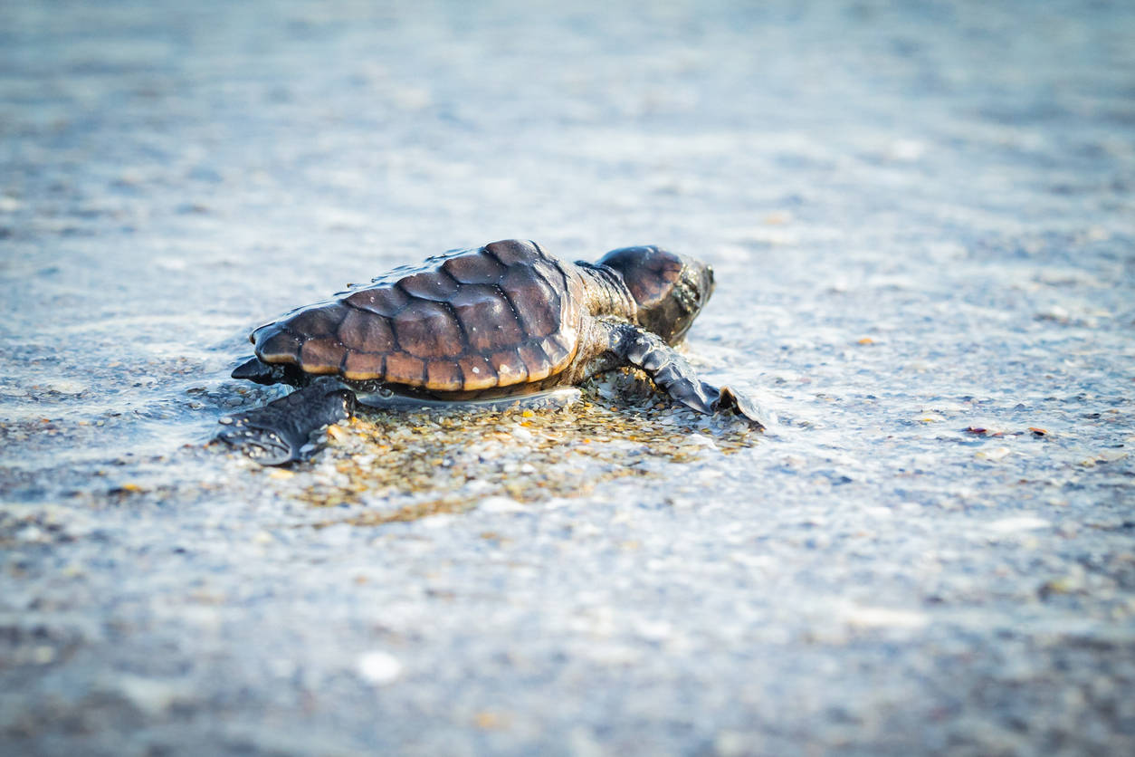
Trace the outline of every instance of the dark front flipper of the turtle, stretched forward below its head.
{"type": "Polygon", "coordinates": [[[637,326],[614,326],[611,351],[641,368],[659,389],[687,407],[706,414],[729,410],[760,430],[768,424],[756,403],[731,387],[718,388],[699,379],[684,358],[650,331],[637,326]]]}

